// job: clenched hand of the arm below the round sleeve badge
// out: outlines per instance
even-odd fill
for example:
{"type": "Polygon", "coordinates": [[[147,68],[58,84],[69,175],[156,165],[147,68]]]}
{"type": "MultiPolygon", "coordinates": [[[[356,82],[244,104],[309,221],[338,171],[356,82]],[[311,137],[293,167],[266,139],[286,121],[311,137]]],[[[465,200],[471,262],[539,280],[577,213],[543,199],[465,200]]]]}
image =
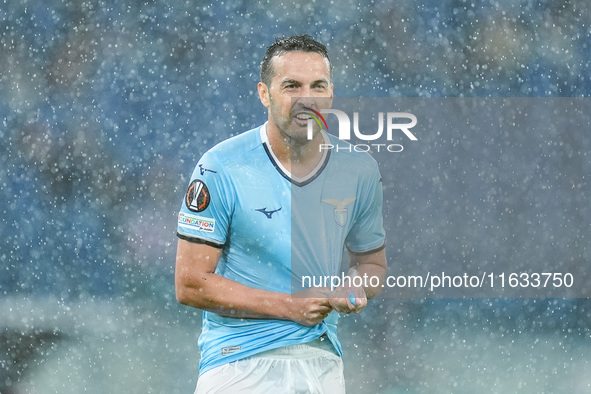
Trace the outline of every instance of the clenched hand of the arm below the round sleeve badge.
{"type": "Polygon", "coordinates": [[[332,312],[329,292],[329,288],[311,288],[291,296],[289,319],[303,326],[320,324],[332,312]]]}

